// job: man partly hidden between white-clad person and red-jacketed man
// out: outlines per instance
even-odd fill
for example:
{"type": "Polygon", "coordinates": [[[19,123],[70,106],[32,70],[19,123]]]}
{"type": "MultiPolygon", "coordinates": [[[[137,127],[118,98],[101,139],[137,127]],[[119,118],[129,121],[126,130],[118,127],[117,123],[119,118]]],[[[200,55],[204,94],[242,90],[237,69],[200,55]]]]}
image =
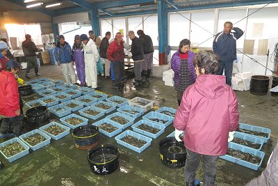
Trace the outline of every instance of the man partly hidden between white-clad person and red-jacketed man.
{"type": "Polygon", "coordinates": [[[105,38],[101,40],[100,46],[99,46],[99,56],[104,60],[105,62],[105,78],[110,77],[110,66],[111,61],[107,59],[106,52],[109,45],[109,40],[111,38],[111,32],[108,31],[105,33],[105,38]]]}

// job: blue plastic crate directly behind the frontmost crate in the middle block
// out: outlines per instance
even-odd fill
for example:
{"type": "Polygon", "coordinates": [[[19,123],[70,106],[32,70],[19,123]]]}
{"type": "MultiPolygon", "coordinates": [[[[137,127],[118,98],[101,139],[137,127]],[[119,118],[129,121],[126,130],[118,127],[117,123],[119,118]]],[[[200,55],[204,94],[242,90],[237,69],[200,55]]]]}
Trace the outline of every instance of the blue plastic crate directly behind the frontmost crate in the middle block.
{"type": "Polygon", "coordinates": [[[152,137],[154,139],[159,137],[164,132],[164,130],[165,130],[165,126],[159,125],[159,124],[156,124],[156,123],[153,123],[153,122],[150,122],[148,120],[140,120],[137,123],[133,124],[131,127],[132,127],[132,130],[134,130],[135,132],[138,132],[140,134],[144,134],[145,136],[152,137]],[[150,127],[157,128],[159,130],[159,132],[157,132],[156,134],[153,134],[153,133],[147,132],[145,130],[140,130],[138,128],[138,126],[141,125],[142,123],[145,123],[145,124],[149,125],[150,127]]]}

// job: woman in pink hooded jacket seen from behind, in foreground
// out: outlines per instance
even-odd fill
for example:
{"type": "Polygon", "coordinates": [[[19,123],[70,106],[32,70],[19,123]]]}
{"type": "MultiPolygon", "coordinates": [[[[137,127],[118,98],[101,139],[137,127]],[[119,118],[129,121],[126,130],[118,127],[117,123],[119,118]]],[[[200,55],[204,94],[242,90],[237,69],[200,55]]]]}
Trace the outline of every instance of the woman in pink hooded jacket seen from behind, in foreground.
{"type": "Polygon", "coordinates": [[[218,68],[218,56],[212,51],[195,56],[197,80],[186,88],[174,118],[176,139],[184,131],[186,185],[194,185],[201,156],[204,185],[214,185],[218,156],[227,154],[229,132],[238,128],[236,94],[226,78],[217,75],[218,68]]]}

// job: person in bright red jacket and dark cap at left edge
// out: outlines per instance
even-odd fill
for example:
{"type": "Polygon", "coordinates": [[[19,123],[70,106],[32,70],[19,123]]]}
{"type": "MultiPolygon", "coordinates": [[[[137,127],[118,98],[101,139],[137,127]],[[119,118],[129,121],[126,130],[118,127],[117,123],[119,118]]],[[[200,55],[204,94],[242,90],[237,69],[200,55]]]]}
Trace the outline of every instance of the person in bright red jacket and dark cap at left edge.
{"type": "Polygon", "coordinates": [[[13,123],[17,137],[22,133],[22,116],[20,115],[19,93],[15,74],[19,70],[17,61],[10,59],[6,68],[0,72],[0,116],[3,117],[0,139],[8,137],[8,128],[13,123]]]}

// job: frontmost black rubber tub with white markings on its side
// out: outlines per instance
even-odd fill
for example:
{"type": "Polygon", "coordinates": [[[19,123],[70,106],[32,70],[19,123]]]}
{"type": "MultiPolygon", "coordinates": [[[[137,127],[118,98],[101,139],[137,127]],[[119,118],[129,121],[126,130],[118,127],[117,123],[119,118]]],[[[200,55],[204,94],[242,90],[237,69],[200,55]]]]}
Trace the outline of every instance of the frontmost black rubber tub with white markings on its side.
{"type": "Polygon", "coordinates": [[[93,173],[106,175],[112,173],[119,166],[119,152],[116,146],[101,145],[92,148],[87,156],[93,173]]]}

